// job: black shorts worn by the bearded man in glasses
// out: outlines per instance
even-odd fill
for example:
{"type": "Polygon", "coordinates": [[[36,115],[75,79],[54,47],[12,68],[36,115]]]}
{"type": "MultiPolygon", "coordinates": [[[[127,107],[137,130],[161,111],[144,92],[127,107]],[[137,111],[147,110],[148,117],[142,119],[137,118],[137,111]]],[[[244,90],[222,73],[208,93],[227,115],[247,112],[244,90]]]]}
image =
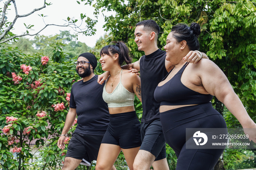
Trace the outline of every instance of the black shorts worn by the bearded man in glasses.
{"type": "Polygon", "coordinates": [[[97,160],[102,138],[103,135],[85,135],[74,132],[65,157],[85,159],[89,163],[97,160]]]}

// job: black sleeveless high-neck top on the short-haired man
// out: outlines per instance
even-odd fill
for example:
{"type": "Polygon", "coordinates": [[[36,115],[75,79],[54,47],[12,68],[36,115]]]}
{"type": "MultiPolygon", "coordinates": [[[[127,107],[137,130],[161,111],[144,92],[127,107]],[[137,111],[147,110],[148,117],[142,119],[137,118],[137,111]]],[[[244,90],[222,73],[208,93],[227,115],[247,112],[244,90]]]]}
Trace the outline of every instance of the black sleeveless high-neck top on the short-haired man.
{"type": "Polygon", "coordinates": [[[155,101],[154,91],[158,83],[167,75],[165,68],[166,52],[158,49],[140,58],[140,80],[142,90],[142,122],[151,123],[160,119],[160,103],[155,101]]]}

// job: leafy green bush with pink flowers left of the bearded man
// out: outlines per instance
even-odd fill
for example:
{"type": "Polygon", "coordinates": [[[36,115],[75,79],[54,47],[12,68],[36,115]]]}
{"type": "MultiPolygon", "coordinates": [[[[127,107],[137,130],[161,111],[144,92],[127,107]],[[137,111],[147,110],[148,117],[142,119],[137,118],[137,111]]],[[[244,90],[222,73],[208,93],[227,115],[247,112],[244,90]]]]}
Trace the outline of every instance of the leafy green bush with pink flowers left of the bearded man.
{"type": "MultiPolygon", "coordinates": [[[[61,51],[57,45],[56,49],[61,51]]],[[[68,112],[66,93],[70,93],[72,83],[79,77],[75,74],[74,59],[62,63],[49,60],[42,65],[43,56],[0,47],[0,163],[6,169],[29,169],[35,158],[32,146],[45,148],[40,157],[47,166],[62,166],[64,156],[60,156],[56,142],[68,112]],[[31,66],[28,74],[20,68],[22,64],[31,66]],[[12,73],[22,80],[15,83],[12,73]],[[58,103],[64,103],[65,109],[54,111],[53,106],[58,103]],[[46,115],[37,115],[43,111],[46,115]],[[17,120],[7,122],[7,116],[17,120]],[[6,132],[4,129],[8,125],[6,132]],[[21,151],[13,151],[15,147],[21,151]]]]}

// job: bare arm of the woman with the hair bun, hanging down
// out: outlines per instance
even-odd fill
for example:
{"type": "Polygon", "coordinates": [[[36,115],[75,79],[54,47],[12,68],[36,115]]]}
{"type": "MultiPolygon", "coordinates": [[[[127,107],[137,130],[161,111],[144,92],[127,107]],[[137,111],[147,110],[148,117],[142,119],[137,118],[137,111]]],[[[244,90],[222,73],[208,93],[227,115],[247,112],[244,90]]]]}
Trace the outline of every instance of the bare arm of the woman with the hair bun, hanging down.
{"type": "MultiPolygon", "coordinates": [[[[193,73],[192,73],[193,74],[193,73]]],[[[256,124],[248,115],[240,98],[234,92],[229,80],[222,70],[210,60],[202,60],[197,68],[197,74],[202,80],[202,85],[208,93],[214,95],[237,118],[244,128],[249,139],[256,143],[256,124]],[[254,131],[245,128],[254,128],[254,131]]]]}

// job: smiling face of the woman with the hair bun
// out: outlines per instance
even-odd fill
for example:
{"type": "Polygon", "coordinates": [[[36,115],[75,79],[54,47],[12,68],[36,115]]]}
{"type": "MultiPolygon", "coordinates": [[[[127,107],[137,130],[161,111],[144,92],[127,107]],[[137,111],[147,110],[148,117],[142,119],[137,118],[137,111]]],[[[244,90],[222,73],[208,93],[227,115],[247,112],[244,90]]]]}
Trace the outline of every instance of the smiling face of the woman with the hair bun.
{"type": "Polygon", "coordinates": [[[167,36],[166,45],[164,47],[166,51],[166,60],[174,64],[178,63],[182,59],[181,55],[181,43],[173,37],[173,32],[167,36]]]}

